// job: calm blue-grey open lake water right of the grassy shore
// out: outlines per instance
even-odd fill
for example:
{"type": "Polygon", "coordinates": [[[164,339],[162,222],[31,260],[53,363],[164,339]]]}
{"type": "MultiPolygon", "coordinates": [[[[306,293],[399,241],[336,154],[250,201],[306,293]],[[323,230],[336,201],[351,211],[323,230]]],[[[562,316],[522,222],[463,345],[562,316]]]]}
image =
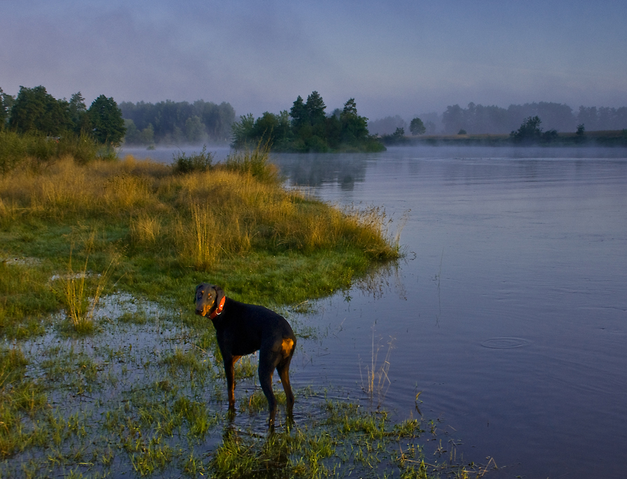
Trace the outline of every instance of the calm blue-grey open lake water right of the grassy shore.
{"type": "MultiPolygon", "coordinates": [[[[326,328],[296,384],[364,397],[373,342],[391,380],[374,401],[439,418],[457,457],[493,477],[623,477],[627,466],[627,151],[390,148],[277,155],[289,184],[407,214],[406,258],[316,304],[326,328]],[[361,370],[360,370],[361,365],[361,370]]],[[[377,368],[375,367],[375,370],[377,368]]]]}

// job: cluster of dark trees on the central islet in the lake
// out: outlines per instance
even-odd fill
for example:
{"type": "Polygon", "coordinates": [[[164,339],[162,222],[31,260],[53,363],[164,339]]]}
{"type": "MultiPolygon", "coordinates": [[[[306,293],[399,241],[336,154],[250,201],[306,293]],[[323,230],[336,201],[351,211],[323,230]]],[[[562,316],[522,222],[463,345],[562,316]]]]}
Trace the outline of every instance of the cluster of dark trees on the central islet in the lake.
{"type": "Polygon", "coordinates": [[[343,109],[325,112],[326,105],[314,91],[305,102],[298,95],[289,111],[266,111],[259,118],[252,113],[233,123],[233,148],[268,143],[275,151],[383,151],[385,147],[368,133],[368,118],[359,116],[354,98],[343,109]]]}

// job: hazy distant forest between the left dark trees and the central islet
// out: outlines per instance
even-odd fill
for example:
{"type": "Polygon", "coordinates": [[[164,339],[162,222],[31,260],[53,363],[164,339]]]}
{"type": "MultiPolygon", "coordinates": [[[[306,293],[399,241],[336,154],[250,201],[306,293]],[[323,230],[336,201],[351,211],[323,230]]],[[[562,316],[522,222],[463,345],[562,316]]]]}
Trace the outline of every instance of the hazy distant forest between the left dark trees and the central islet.
{"type": "Polygon", "coordinates": [[[122,102],[126,144],[200,144],[230,141],[235,110],[226,102],[122,102]]]}

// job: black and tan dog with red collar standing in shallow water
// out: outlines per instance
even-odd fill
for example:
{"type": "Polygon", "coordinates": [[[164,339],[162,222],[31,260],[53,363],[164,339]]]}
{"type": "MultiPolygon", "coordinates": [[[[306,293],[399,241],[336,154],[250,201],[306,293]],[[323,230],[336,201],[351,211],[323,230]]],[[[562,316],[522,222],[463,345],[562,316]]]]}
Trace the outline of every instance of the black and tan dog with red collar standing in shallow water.
{"type": "Polygon", "coordinates": [[[277,400],[272,391],[272,376],[277,370],[291,417],[294,394],[289,385],[289,363],[296,349],[296,336],[287,320],[263,306],[248,305],[224,296],[219,286],[202,283],[196,287],[196,314],[211,318],[224,360],[228,407],[235,409],[234,366],[237,359],[259,351],[259,382],[268,399],[270,426],[274,424],[277,400]]]}

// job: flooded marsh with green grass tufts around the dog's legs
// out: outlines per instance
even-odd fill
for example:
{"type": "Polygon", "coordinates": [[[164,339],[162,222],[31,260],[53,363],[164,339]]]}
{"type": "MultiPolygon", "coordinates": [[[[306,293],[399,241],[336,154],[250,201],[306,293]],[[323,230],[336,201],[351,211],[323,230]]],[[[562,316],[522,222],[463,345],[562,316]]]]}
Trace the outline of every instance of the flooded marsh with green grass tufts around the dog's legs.
{"type": "Polygon", "coordinates": [[[295,390],[295,424],[286,422],[284,395],[277,391],[275,433],[266,429],[266,398],[251,378],[238,384],[238,412],[226,415],[223,374],[207,375],[205,382],[198,373],[189,376],[211,352],[180,344],[202,326],[188,330],[172,319],[158,327],[113,321],[95,341],[37,341],[28,354],[1,349],[0,370],[9,364],[13,373],[0,386],[2,394],[11,389],[0,402],[2,417],[11,421],[10,436],[0,428],[0,438],[8,439],[0,475],[413,477],[420,461],[428,478],[453,470],[443,452],[450,444],[437,457],[422,450],[425,430],[431,429],[427,443],[448,439],[436,432],[436,422],[396,423],[383,410],[327,400],[312,387],[295,390]],[[18,386],[20,395],[14,394],[18,386]]]}

